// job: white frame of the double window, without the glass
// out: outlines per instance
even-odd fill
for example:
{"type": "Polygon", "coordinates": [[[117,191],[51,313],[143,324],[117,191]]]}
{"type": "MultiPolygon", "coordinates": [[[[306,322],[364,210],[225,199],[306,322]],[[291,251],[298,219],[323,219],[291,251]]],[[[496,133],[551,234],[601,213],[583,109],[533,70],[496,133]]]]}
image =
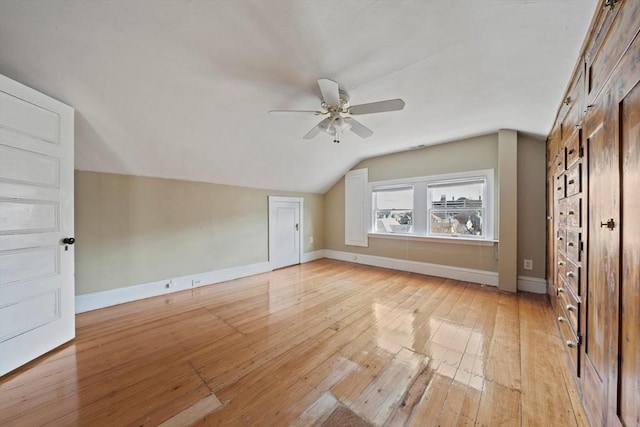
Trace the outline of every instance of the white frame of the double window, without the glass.
{"type": "Polygon", "coordinates": [[[494,223],[496,218],[496,206],[494,203],[494,169],[481,169],[467,172],[455,172],[447,174],[429,175],[421,177],[400,178],[385,181],[370,182],[367,188],[369,207],[369,222],[367,224],[370,237],[404,238],[409,240],[430,240],[430,241],[472,241],[472,242],[496,242],[494,240],[494,223]],[[483,209],[486,218],[483,218],[483,235],[443,235],[433,234],[430,230],[428,212],[430,211],[429,185],[450,184],[465,181],[485,182],[483,188],[483,209]],[[399,188],[403,186],[413,187],[413,232],[412,233],[384,233],[374,231],[375,206],[373,204],[373,194],[376,190],[399,188]]]}

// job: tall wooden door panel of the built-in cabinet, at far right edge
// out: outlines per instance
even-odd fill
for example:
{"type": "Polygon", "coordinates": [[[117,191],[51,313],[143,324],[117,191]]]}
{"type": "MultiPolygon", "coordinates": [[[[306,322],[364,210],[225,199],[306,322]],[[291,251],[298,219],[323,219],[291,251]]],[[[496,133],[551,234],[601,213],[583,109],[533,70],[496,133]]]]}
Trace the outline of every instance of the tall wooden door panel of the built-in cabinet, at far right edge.
{"type": "Polygon", "coordinates": [[[618,417],[640,422],[640,84],[620,104],[622,253],[620,276],[618,417]]]}

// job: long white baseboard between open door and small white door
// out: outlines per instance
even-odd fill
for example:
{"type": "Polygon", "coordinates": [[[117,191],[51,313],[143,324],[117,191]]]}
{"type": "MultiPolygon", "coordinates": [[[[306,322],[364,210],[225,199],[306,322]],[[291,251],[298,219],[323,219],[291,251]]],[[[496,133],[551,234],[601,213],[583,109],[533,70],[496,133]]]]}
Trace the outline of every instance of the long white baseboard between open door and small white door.
{"type": "Polygon", "coordinates": [[[185,289],[212,285],[214,283],[226,282],[228,280],[240,279],[242,277],[266,273],[268,271],[271,271],[269,263],[260,262],[257,264],[242,265],[239,267],[225,268],[206,273],[174,277],[141,285],[125,286],[122,288],[110,289],[108,291],[77,295],[76,313],[84,313],[85,311],[97,310],[99,308],[110,307],[112,305],[123,304],[125,302],[170,294],[172,292],[184,291],[185,289]]]}

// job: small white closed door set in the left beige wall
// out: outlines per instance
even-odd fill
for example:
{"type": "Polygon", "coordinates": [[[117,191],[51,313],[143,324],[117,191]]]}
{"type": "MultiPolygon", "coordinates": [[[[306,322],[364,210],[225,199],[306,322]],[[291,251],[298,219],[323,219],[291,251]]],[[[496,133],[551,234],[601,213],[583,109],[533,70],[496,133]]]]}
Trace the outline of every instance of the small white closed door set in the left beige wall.
{"type": "Polygon", "coordinates": [[[303,199],[269,197],[269,263],[272,269],[300,264],[303,199]]]}

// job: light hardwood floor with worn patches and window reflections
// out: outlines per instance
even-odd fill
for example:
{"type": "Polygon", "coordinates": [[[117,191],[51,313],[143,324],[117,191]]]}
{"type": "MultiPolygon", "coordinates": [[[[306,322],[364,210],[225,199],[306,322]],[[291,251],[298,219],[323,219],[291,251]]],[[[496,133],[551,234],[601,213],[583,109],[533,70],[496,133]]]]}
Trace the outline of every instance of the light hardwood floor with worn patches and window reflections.
{"type": "Polygon", "coordinates": [[[546,296],[319,260],[78,315],[0,425],[587,425],[564,357],[546,296]]]}

